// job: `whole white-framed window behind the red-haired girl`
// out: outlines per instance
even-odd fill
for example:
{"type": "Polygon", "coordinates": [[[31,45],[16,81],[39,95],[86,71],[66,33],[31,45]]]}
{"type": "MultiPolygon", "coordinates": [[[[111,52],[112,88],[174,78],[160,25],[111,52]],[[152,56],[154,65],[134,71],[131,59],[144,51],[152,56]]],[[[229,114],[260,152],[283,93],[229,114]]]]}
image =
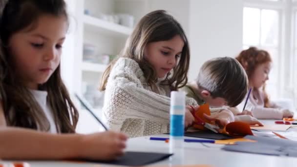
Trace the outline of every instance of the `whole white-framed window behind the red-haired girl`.
{"type": "Polygon", "coordinates": [[[249,46],[273,59],[270,97],[291,98],[297,106],[297,0],[244,0],[243,48],[249,46]]]}

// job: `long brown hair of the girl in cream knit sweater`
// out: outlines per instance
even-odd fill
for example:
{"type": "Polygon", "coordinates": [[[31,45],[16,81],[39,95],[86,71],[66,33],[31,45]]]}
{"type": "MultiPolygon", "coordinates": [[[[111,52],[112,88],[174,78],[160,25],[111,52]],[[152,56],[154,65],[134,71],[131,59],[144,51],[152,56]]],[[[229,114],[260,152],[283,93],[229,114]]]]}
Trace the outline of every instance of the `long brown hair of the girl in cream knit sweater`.
{"type": "MultiPolygon", "coordinates": [[[[143,70],[148,84],[153,89],[157,81],[157,75],[152,65],[144,58],[145,47],[150,42],[168,41],[176,35],[179,35],[184,41],[181,58],[179,63],[173,68],[173,74],[168,73],[162,84],[170,85],[171,90],[177,90],[188,82],[187,73],[189,70],[190,49],[182,26],[166,11],[156,10],[145,15],[127,39],[125,48],[119,57],[135,60],[143,70]]],[[[116,61],[117,59],[112,61],[105,70],[99,90],[105,90],[110,71],[116,61]]]]}

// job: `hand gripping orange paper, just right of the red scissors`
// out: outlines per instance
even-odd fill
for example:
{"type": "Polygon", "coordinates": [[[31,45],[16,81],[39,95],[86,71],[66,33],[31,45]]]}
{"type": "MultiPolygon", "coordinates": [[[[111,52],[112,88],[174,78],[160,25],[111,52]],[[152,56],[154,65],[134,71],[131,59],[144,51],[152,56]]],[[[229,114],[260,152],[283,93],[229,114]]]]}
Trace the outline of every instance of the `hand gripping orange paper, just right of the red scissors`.
{"type": "Polygon", "coordinates": [[[227,124],[234,122],[234,115],[228,109],[224,109],[221,112],[212,115],[204,114],[204,117],[209,121],[215,121],[215,123],[221,128],[224,128],[227,124]]]}

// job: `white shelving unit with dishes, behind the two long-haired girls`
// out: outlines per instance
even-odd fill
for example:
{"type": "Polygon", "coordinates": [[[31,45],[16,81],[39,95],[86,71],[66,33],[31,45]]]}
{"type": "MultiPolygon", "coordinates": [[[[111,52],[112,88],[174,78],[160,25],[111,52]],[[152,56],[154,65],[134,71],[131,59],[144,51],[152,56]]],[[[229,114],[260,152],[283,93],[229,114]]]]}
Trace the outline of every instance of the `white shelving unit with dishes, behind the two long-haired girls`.
{"type": "MultiPolygon", "coordinates": [[[[73,33],[71,51],[74,54],[72,77],[68,77],[71,91],[82,94],[95,109],[96,115],[102,117],[104,94],[98,90],[101,76],[107,64],[84,61],[84,43],[96,46],[96,55],[118,55],[124,48],[132,28],[100,19],[100,15],[129,14],[135,22],[145,14],[147,0],[66,0],[73,9],[70,15],[70,31],[73,33]],[[89,11],[85,14],[85,10],[89,11]],[[74,18],[74,19],[73,19],[74,18]],[[71,20],[72,19],[72,20],[71,20]],[[94,98],[92,96],[94,95],[94,98]],[[95,104],[94,102],[98,102],[95,104]]],[[[69,48],[69,47],[68,47],[69,48]]],[[[97,57],[100,62],[100,57],[97,57]]],[[[66,59],[66,58],[64,58],[66,59]]],[[[95,59],[97,60],[97,59],[95,59]]],[[[68,61],[68,60],[66,60],[68,61]]],[[[70,67],[68,67],[70,68],[70,67]]],[[[66,76],[66,73],[65,73],[66,76]]],[[[79,104],[79,103],[78,103],[79,104]]],[[[79,105],[78,105],[79,106],[79,105]]],[[[102,131],[102,127],[84,108],[79,108],[80,119],[77,126],[79,133],[102,131]]]]}

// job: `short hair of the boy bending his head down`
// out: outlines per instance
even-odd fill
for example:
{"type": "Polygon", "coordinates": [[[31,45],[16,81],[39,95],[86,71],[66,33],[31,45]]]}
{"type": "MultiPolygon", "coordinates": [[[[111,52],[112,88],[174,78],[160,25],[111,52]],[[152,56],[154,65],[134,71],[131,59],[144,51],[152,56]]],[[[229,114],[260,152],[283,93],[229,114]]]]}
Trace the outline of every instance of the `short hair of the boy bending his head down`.
{"type": "Polygon", "coordinates": [[[202,65],[196,84],[200,89],[208,90],[213,98],[224,98],[229,106],[236,106],[247,93],[248,78],[238,61],[222,57],[202,65]]]}

